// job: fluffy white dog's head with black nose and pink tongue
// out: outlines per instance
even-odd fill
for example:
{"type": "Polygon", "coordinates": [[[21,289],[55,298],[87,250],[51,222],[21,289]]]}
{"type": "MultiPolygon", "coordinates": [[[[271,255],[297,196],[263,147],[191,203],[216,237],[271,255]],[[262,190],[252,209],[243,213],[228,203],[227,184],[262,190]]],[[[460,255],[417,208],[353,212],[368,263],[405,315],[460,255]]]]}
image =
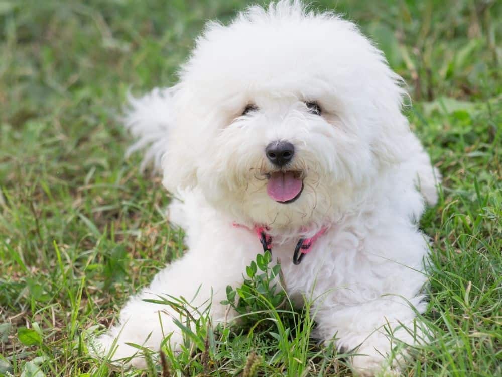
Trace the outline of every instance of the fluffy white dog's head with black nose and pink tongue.
{"type": "Polygon", "coordinates": [[[236,221],[322,226],[399,161],[399,77],[352,23],[299,5],[210,24],[175,88],[165,185],[236,221]]]}

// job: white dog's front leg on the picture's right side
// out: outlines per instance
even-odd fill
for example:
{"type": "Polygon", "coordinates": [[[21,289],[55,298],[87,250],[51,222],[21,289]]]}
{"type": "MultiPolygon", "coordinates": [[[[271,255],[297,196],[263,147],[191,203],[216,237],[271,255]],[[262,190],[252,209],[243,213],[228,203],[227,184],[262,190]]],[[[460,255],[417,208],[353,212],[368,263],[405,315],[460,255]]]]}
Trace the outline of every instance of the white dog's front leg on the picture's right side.
{"type": "Polygon", "coordinates": [[[355,352],[350,361],[361,375],[399,370],[404,353],[395,347],[426,342],[415,318],[427,306],[420,293],[427,241],[406,227],[394,230],[367,235],[361,244],[367,248],[353,254],[356,267],[338,265],[344,274],[336,287],[313,304],[317,335],[355,352]]]}

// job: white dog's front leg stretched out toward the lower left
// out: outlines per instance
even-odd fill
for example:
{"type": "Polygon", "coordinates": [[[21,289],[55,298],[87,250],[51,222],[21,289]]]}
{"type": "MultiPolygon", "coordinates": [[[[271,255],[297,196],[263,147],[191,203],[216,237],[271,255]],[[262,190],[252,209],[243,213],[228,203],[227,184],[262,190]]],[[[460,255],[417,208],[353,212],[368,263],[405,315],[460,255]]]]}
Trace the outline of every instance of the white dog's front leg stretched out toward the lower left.
{"type": "MultiPolygon", "coordinates": [[[[226,299],[226,286],[241,283],[245,266],[255,256],[249,250],[259,249],[259,243],[250,232],[215,220],[206,224],[191,247],[182,259],[159,272],[148,288],[129,300],[120,312],[118,323],[94,342],[96,352],[110,360],[137,354],[128,362],[145,367],[141,351],[127,343],[156,351],[163,339],[171,336],[169,345],[174,350],[179,347],[182,333],[173,319],[180,319],[180,314],[169,305],[145,299],[173,301],[169,296],[183,297],[200,312],[210,305],[213,324],[227,319],[226,307],[220,304],[226,299]]],[[[196,316],[195,312],[192,311],[196,316]]]]}

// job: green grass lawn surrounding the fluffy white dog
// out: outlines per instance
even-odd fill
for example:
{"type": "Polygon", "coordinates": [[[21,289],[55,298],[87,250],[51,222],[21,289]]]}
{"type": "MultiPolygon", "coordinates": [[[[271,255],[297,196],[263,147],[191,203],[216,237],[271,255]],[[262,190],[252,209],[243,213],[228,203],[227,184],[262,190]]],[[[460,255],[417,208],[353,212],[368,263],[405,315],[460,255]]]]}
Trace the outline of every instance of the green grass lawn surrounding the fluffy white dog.
{"type": "MultiPolygon", "coordinates": [[[[116,115],[129,88],[175,82],[204,20],[245,4],[0,1],[0,375],[141,374],[91,359],[85,335],[184,247],[160,178],[124,159],[116,115]]],[[[316,4],[356,20],[409,83],[411,127],[444,175],[421,221],[435,339],[404,375],[502,375],[500,2],[316,4]]],[[[170,372],[350,375],[343,355],[309,340],[308,316],[269,309],[260,326],[219,332],[202,315],[187,334],[196,346],[168,352],[170,372]]]]}

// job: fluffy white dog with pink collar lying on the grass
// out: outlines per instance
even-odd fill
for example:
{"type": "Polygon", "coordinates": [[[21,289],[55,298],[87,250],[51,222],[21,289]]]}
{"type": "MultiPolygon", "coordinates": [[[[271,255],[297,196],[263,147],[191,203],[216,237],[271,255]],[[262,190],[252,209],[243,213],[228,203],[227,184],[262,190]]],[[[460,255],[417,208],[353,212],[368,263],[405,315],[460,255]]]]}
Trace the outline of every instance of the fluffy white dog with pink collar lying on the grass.
{"type": "Polygon", "coordinates": [[[356,349],[361,374],[392,365],[393,338],[420,338],[429,246],[417,222],[437,199],[437,173],[401,113],[401,84],[353,23],[298,1],[210,22],[178,84],[131,100],[132,148],[149,147],[145,161],[181,199],[169,216],[188,251],[130,299],[98,339],[102,351],[156,350],[171,333],[177,347],[178,314],[142,301],[157,295],[199,291],[193,305],[211,302],[213,323],[222,321],[225,287],[241,284],[265,241],[290,297],[319,298],[319,338],[356,349]]]}

